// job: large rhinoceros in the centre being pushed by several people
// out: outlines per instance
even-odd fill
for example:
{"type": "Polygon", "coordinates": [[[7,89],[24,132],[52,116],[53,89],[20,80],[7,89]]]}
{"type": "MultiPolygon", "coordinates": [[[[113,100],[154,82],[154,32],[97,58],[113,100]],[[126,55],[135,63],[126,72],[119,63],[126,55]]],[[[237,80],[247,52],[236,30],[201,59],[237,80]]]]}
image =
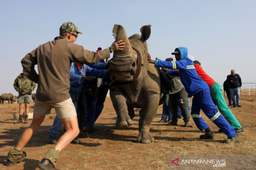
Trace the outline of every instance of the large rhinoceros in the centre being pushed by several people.
{"type": "Polygon", "coordinates": [[[146,40],[151,33],[151,26],[141,28],[142,35],[127,37],[124,27],[114,25],[115,42],[124,40],[124,50],[114,52],[109,61],[110,98],[117,113],[117,128],[132,125],[129,108],[141,108],[139,112],[138,142],[154,142],[149,128],[162,98],[159,71],[154,64],[149,64],[146,40]]]}

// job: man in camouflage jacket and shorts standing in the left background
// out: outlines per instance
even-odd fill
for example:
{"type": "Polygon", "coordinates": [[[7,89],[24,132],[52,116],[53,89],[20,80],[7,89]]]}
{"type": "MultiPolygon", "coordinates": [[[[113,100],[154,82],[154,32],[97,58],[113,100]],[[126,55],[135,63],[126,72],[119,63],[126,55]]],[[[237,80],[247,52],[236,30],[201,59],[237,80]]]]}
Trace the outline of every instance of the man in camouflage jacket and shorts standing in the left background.
{"type": "Polygon", "coordinates": [[[36,83],[28,79],[26,73],[19,74],[18,77],[14,81],[14,89],[18,91],[18,103],[19,103],[19,118],[18,121],[14,124],[23,123],[23,107],[25,104],[25,121],[24,123],[28,123],[28,108],[29,103],[32,102],[32,91],[36,88],[36,83]]]}

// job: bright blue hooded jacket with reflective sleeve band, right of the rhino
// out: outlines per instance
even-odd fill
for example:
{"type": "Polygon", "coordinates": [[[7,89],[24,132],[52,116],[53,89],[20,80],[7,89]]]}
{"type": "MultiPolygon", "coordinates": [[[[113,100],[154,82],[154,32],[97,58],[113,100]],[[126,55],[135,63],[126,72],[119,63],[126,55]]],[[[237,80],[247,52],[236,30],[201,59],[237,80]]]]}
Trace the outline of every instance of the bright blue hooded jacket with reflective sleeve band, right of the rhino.
{"type": "Polygon", "coordinates": [[[206,82],[196,73],[193,61],[188,58],[188,48],[178,47],[178,50],[181,52],[181,60],[176,62],[155,61],[155,67],[169,68],[167,74],[181,77],[181,82],[185,86],[188,97],[204,89],[209,89],[206,82]],[[171,69],[178,69],[178,71],[171,69]]]}

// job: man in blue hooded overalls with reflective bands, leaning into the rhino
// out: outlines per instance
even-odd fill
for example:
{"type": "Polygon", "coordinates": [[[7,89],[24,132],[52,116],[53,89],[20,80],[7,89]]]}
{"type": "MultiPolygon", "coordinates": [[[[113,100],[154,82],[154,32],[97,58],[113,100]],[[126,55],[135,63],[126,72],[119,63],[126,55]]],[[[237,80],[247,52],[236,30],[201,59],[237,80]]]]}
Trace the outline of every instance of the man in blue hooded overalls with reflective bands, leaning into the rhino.
{"type": "Polygon", "coordinates": [[[193,96],[191,117],[199,130],[206,131],[206,134],[201,135],[200,138],[213,139],[214,137],[213,132],[210,131],[209,126],[200,115],[200,110],[202,109],[207,117],[228,136],[228,139],[226,139],[225,142],[232,143],[237,141],[239,138],[238,134],[216,109],[210,98],[208,85],[196,73],[193,61],[188,59],[188,49],[186,47],[178,47],[175,49],[175,52],[172,52],[171,54],[175,55],[176,62],[154,61],[151,60],[149,54],[148,60],[149,63],[153,63],[155,67],[169,68],[167,71],[168,74],[181,77],[181,82],[188,92],[188,97],[193,96]],[[178,71],[171,69],[178,69],[178,71]]]}

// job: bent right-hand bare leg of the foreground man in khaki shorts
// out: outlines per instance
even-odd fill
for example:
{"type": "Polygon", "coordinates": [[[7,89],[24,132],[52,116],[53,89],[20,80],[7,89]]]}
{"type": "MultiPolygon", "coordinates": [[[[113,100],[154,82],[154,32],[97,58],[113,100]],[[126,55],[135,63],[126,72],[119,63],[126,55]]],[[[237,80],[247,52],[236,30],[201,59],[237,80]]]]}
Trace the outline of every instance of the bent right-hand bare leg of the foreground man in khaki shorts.
{"type": "Polygon", "coordinates": [[[79,134],[78,128],[78,118],[74,116],[73,118],[60,118],[61,123],[63,123],[66,132],[60,137],[55,145],[55,148],[59,152],[67,147],[72,140],[79,134]]]}

